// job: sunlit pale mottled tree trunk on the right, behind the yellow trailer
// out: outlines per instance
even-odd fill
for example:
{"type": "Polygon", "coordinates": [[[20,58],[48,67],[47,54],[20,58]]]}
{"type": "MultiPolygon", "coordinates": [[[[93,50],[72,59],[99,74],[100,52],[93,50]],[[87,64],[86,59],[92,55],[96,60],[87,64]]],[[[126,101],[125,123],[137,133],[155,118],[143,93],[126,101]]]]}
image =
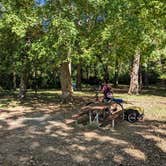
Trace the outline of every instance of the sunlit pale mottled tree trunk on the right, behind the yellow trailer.
{"type": "Polygon", "coordinates": [[[129,94],[139,93],[139,66],[140,66],[140,51],[137,51],[134,55],[133,66],[130,75],[130,87],[129,94]]]}

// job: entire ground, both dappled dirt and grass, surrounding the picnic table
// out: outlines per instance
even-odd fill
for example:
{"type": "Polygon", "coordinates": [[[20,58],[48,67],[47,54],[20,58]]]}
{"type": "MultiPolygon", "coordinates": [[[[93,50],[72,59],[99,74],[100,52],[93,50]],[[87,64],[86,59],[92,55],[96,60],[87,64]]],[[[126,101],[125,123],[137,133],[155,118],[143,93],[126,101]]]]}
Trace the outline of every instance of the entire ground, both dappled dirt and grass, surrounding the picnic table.
{"type": "MultiPolygon", "coordinates": [[[[144,122],[117,122],[115,129],[71,126],[66,119],[93,100],[94,92],[76,92],[74,103],[60,103],[60,92],[0,95],[0,166],[165,166],[166,91],[148,89],[115,97],[145,110],[144,122]]],[[[124,105],[127,107],[127,105],[124,105]]]]}

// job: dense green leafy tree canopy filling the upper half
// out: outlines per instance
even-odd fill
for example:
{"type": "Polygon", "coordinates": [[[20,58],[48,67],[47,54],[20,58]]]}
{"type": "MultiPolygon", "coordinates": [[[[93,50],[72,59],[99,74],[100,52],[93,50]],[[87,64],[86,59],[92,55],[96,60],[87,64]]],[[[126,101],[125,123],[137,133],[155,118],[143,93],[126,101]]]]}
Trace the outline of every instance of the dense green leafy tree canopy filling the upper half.
{"type": "Polygon", "coordinates": [[[36,75],[58,79],[72,62],[73,80],[78,64],[82,79],[113,80],[130,74],[139,50],[142,73],[165,78],[165,8],[164,0],[1,0],[0,73],[26,73],[30,85],[36,75]]]}

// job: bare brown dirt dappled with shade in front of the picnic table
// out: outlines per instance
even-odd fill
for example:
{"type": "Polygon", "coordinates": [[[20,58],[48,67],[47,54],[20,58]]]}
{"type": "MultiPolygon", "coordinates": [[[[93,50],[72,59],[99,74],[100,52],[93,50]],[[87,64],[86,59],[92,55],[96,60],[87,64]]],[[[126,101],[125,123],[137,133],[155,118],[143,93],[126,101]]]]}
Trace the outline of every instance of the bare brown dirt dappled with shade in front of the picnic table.
{"type": "MultiPolygon", "coordinates": [[[[52,101],[51,101],[52,102],[52,101]]],[[[54,101],[53,101],[54,102],[54,101]]],[[[51,104],[51,103],[49,103],[51,104]]],[[[115,130],[72,127],[76,108],[0,113],[0,165],[151,165],[166,163],[166,122],[118,123],[115,130]],[[3,118],[3,115],[8,117],[3,118]]]]}

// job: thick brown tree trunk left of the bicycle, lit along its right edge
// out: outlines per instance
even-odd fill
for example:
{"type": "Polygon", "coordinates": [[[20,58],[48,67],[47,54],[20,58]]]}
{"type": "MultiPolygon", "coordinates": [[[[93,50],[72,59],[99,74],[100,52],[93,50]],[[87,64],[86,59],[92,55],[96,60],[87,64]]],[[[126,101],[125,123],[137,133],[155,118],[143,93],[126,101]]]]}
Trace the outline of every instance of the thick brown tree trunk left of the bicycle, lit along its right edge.
{"type": "Polygon", "coordinates": [[[63,102],[72,99],[73,87],[71,82],[71,63],[63,62],[60,67],[60,82],[63,102]]]}

